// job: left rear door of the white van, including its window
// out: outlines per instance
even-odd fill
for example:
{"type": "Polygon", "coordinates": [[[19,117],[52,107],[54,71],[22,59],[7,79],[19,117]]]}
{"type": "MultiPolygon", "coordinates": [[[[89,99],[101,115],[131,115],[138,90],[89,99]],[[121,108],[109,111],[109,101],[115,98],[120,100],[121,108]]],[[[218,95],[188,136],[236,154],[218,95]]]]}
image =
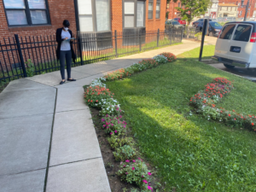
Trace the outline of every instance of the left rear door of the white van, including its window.
{"type": "Polygon", "coordinates": [[[236,28],[236,23],[227,24],[223,27],[219,35],[219,38],[217,39],[217,42],[216,42],[214,55],[231,59],[229,55],[230,42],[231,42],[231,38],[235,28],[236,28]]]}

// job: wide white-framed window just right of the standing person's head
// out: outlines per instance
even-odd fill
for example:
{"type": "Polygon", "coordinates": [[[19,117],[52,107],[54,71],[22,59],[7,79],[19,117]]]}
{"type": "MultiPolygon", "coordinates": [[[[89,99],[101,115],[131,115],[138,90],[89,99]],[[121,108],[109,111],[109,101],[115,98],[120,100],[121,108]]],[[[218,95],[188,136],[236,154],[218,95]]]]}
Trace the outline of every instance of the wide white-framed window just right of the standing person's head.
{"type": "Polygon", "coordinates": [[[109,0],[78,0],[80,32],[110,31],[109,0]]]}

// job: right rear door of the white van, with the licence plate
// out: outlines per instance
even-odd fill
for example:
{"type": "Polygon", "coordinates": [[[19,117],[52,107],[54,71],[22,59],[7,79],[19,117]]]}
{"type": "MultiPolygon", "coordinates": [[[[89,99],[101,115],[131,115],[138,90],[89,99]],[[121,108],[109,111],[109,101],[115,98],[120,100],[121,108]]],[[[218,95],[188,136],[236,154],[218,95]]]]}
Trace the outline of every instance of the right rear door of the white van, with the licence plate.
{"type": "Polygon", "coordinates": [[[239,24],[230,43],[230,59],[234,61],[251,61],[253,43],[250,42],[253,26],[251,24],[239,24]]]}

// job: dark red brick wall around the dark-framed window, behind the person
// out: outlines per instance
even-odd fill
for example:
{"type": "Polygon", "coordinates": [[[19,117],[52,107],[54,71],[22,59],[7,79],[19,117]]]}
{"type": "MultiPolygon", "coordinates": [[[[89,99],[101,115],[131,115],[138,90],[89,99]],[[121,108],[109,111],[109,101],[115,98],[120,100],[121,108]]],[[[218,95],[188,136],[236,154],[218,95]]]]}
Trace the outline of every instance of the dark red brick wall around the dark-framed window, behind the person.
{"type": "Polygon", "coordinates": [[[14,34],[20,36],[37,36],[55,34],[57,28],[62,26],[63,20],[70,21],[70,29],[76,33],[75,11],[72,0],[48,0],[50,25],[48,26],[22,26],[9,27],[3,9],[3,0],[0,0],[0,34],[3,37],[13,37],[14,34]]]}

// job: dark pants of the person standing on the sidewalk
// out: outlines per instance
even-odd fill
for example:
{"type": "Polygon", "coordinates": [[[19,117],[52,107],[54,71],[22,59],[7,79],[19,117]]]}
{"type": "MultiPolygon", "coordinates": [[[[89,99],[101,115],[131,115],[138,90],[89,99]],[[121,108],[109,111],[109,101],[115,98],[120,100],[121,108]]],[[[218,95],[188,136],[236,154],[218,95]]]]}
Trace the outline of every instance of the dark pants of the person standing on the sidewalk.
{"type": "Polygon", "coordinates": [[[65,79],[65,59],[67,62],[67,79],[70,79],[71,63],[72,63],[71,50],[61,50],[60,62],[61,62],[61,78],[62,79],[65,79]]]}

